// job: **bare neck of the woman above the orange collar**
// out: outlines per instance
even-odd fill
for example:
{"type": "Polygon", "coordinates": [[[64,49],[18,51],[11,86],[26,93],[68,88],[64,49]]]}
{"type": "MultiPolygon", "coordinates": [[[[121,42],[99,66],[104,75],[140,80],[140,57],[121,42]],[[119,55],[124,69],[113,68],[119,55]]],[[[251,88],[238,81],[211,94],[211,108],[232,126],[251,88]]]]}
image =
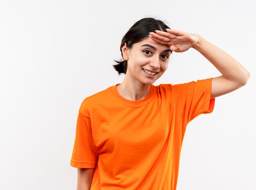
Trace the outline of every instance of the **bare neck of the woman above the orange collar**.
{"type": "Polygon", "coordinates": [[[128,100],[141,100],[148,96],[150,87],[140,81],[130,81],[124,77],[124,81],[117,85],[118,93],[128,100]]]}

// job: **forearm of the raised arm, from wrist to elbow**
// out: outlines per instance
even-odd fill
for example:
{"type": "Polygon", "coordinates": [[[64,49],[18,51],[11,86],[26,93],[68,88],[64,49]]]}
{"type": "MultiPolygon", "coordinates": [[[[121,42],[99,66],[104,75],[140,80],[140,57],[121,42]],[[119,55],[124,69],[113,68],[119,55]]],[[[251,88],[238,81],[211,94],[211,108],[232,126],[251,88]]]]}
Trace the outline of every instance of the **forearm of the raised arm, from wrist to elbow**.
{"type": "Polygon", "coordinates": [[[241,85],[249,79],[249,72],[238,61],[200,35],[198,35],[198,43],[193,48],[208,59],[225,79],[241,85]]]}

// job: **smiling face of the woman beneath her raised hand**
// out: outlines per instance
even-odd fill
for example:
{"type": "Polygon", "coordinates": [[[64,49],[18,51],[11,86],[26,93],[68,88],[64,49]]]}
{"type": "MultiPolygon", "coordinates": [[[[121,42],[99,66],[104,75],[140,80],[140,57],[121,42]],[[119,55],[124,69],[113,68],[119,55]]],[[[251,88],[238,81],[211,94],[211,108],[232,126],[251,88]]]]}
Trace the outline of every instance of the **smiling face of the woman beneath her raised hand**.
{"type": "Polygon", "coordinates": [[[170,46],[158,44],[149,37],[133,44],[132,48],[122,47],[123,57],[127,60],[128,76],[133,83],[153,84],[167,69],[170,46]]]}

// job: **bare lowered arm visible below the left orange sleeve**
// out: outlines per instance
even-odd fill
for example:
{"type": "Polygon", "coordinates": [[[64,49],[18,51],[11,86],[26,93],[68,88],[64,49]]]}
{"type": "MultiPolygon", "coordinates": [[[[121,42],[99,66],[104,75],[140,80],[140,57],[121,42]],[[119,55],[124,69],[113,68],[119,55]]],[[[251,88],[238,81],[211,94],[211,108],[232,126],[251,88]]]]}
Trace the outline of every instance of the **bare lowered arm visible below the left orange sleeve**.
{"type": "Polygon", "coordinates": [[[77,168],[76,190],[90,190],[94,168],[77,168]]]}

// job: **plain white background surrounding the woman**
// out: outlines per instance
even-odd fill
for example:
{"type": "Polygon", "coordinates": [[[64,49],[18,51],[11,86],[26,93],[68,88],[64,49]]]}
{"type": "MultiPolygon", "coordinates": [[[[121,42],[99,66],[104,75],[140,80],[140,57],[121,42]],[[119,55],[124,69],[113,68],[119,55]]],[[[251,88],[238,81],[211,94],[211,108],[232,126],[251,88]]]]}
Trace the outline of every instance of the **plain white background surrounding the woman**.
{"type": "MultiPolygon", "coordinates": [[[[255,10],[255,0],[1,0],[0,189],[76,189],[70,158],[81,102],[121,83],[112,68],[121,38],[154,16],[200,34],[251,73],[187,127],[177,190],[255,190],[255,10]]],[[[174,52],[154,85],[219,75],[191,49],[174,52]]]]}

